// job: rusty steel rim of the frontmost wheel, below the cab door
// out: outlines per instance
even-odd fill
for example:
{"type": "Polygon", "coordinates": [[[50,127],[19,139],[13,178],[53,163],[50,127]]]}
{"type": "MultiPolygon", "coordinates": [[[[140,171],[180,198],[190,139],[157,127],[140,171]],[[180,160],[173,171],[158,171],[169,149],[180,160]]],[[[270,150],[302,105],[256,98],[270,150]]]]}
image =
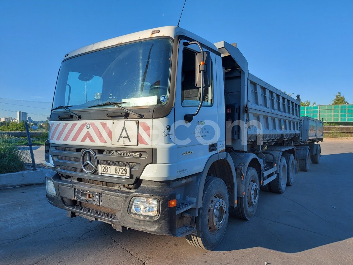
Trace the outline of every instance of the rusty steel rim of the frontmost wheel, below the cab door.
{"type": "Polygon", "coordinates": [[[226,202],[223,201],[220,194],[215,194],[210,201],[208,208],[208,230],[215,234],[225,223],[227,213],[226,202]]]}

